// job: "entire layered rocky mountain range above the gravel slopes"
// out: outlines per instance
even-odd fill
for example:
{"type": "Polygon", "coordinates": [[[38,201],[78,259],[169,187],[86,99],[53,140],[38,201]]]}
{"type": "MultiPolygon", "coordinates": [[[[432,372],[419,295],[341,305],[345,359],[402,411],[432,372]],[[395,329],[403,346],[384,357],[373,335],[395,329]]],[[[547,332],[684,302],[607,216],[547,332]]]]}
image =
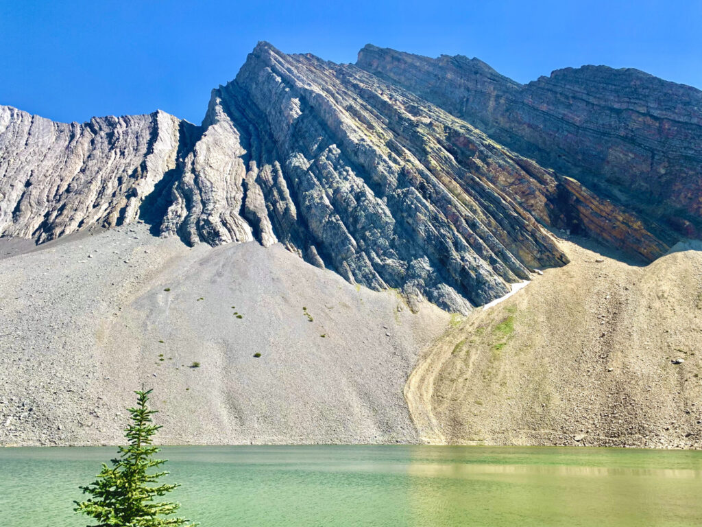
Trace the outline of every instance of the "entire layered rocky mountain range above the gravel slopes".
{"type": "Polygon", "coordinates": [[[587,66],[522,86],[477,59],[262,42],[201,126],[0,106],[0,235],[145,221],[185,244],[280,242],[348,282],[467,313],[567,256],[653,261],[702,225],[702,92],[587,66]]]}

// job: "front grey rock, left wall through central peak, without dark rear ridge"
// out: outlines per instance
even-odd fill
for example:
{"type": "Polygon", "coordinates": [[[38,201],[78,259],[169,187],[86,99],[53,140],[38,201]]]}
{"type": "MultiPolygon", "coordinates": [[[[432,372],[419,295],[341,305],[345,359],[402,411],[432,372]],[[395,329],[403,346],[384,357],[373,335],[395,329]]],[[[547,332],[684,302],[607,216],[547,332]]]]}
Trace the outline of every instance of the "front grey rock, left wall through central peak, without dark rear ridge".
{"type": "Polygon", "coordinates": [[[281,242],[411,307],[461,313],[567,263],[542,225],[579,223],[644,259],[668,249],[413,93],[267,43],[213,90],[201,126],[164,112],[60,124],[0,107],[0,235],[44,242],[137,219],[188,245],[281,242]]]}

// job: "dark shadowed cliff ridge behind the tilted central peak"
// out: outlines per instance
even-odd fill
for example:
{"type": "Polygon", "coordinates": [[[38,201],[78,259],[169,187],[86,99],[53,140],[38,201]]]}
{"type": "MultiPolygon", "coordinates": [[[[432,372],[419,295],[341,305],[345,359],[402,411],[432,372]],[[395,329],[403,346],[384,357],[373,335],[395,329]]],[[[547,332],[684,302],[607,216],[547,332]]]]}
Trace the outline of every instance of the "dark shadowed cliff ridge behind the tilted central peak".
{"type": "Polygon", "coordinates": [[[683,235],[702,225],[702,91],[633,69],[566,68],[526,85],[464,56],[366,46],[357,65],[544,167],[683,235]]]}

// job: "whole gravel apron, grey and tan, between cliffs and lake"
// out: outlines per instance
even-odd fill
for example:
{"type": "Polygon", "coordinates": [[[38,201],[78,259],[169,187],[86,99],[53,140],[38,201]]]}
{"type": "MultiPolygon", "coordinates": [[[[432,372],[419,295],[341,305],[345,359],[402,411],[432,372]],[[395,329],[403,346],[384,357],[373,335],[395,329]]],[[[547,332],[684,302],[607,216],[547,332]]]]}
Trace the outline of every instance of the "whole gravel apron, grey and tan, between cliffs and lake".
{"type": "Polygon", "coordinates": [[[144,383],[163,443],[700,448],[702,247],[642,267],[574,241],[449,319],[279,245],[0,240],[0,444],[119,443],[144,383]]]}

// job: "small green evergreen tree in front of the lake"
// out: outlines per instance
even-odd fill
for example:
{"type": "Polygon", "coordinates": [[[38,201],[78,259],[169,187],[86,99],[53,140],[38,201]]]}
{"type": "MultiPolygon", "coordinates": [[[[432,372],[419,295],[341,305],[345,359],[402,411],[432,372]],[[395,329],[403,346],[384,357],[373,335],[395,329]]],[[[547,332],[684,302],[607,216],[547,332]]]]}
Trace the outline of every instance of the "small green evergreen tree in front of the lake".
{"type": "Polygon", "coordinates": [[[96,481],[80,487],[92,498],[74,502],[74,510],[100,522],[93,527],[194,527],[197,523],[187,523],[190,520],[167,517],[178,510],[180,503],[154,502],[154,497],[164,496],[179,485],[157,484],[168,472],[147,474],[148,469],[166,462],[153,459],[159,448],[152,445],[152,436],[161,426],[152,424],[151,416],[157,410],[147,407],[151,390],[135,393],[138,405],[128,409],[132,422],[124,434],[129,445],[119,447],[120,456],[111,460],[112,467],[102,464],[96,481]]]}

